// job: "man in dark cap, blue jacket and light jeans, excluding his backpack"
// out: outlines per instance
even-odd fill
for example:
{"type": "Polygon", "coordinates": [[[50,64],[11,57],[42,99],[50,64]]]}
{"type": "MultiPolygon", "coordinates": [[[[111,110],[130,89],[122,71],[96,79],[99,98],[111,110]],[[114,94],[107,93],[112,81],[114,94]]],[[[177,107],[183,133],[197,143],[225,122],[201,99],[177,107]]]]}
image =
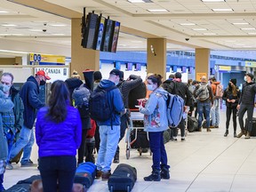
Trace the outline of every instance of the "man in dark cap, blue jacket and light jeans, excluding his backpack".
{"type": "MultiPolygon", "coordinates": [[[[108,79],[101,80],[95,92],[97,89],[108,90],[118,84],[120,76],[122,76],[120,70],[111,70],[108,79]]],[[[107,121],[97,121],[100,127],[100,149],[96,162],[96,178],[100,179],[101,177],[102,180],[108,180],[111,175],[111,164],[120,138],[120,116],[125,113],[122,94],[117,87],[107,91],[107,98],[108,107],[111,108],[112,115],[107,121]]]]}

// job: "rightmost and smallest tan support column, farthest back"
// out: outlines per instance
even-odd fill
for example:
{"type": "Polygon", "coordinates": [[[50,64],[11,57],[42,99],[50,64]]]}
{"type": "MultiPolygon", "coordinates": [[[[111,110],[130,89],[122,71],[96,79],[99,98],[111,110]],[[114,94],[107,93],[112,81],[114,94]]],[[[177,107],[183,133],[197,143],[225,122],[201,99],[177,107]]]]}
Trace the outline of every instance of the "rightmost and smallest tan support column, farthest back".
{"type": "Polygon", "coordinates": [[[210,49],[196,49],[196,80],[200,81],[201,76],[210,75],[210,49]]]}

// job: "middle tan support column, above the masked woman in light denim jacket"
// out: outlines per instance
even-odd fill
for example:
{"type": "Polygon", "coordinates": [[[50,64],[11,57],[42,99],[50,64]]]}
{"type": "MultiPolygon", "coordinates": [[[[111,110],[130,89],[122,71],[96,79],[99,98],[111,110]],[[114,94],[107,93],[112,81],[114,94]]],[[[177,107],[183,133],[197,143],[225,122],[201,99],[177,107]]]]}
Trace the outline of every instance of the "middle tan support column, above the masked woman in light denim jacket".
{"type": "Polygon", "coordinates": [[[148,38],[147,73],[160,74],[166,79],[166,39],[148,38]]]}

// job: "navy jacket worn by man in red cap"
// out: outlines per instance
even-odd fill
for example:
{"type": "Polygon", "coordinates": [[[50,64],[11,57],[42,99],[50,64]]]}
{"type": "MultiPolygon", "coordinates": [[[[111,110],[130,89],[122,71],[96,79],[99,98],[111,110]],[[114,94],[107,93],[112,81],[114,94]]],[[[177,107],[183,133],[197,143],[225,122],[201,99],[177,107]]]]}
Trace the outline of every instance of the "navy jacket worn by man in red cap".
{"type": "Polygon", "coordinates": [[[39,85],[34,76],[29,76],[27,82],[20,90],[20,98],[24,104],[24,125],[32,129],[36,119],[36,109],[44,107],[44,103],[39,100],[39,85]]]}

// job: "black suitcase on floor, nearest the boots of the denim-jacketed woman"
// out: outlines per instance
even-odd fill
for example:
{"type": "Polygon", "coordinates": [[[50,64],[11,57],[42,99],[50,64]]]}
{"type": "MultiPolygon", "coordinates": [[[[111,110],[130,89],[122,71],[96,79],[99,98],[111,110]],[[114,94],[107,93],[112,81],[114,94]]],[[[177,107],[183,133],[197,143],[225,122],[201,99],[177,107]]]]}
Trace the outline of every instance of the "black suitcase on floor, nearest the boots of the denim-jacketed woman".
{"type": "Polygon", "coordinates": [[[118,164],[116,170],[108,178],[108,189],[113,191],[132,191],[134,183],[137,180],[137,171],[135,167],[129,164],[118,164]]]}

